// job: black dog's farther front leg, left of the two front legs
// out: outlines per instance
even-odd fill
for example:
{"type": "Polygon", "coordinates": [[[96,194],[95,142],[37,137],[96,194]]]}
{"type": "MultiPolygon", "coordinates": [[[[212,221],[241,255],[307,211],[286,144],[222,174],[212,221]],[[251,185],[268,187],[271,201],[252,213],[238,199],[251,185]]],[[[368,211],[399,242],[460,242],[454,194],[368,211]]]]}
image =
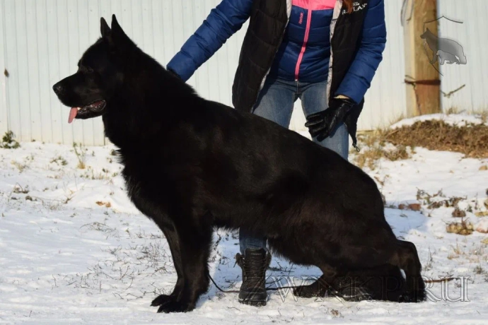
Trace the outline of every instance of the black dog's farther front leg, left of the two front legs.
{"type": "Polygon", "coordinates": [[[170,246],[171,257],[173,258],[173,264],[175,265],[176,275],[178,276],[178,279],[176,280],[176,285],[173,289],[173,293],[171,293],[170,295],[159,295],[158,297],[156,297],[155,300],[153,300],[153,302],[151,302],[151,306],[161,306],[167,304],[168,302],[179,300],[184,283],[180,252],[180,240],[178,238],[178,232],[176,232],[175,225],[173,224],[173,221],[165,218],[164,223],[161,223],[159,227],[161,228],[161,230],[163,230],[164,236],[170,246]]]}

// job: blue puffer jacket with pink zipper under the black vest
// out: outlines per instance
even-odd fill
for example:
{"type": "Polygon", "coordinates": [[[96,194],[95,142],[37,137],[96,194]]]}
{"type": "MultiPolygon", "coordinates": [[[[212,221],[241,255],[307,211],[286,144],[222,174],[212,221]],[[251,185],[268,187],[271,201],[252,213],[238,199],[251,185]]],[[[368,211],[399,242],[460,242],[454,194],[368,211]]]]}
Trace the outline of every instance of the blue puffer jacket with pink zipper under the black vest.
{"type": "MultiPolygon", "coordinates": [[[[292,4],[289,24],[269,78],[326,81],[330,59],[330,22],[335,0],[292,0],[292,4]]],[[[385,48],[383,6],[383,0],[368,1],[361,46],[335,95],[346,95],[356,102],[364,98],[385,48]]],[[[252,0],[221,1],[171,59],[167,68],[185,81],[189,79],[242,27],[250,16],[251,8],[252,0]]]]}

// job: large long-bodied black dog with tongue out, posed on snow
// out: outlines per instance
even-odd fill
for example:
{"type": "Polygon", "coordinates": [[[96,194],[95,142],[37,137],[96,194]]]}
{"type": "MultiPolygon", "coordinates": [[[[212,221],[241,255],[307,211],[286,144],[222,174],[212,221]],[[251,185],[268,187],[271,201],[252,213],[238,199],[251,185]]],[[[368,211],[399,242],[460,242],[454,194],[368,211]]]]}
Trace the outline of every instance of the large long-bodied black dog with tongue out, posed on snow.
{"type": "MultiPolygon", "coordinates": [[[[168,240],[178,280],[153,301],[159,312],[190,311],[208,290],[214,227],[245,228],[295,264],[318,266],[323,276],[296,290],[303,296],[376,270],[405,284],[383,298],[424,299],[417,250],[396,239],[366,173],[293,131],[200,98],[115,16],[111,28],[102,18],[101,33],[79,70],[53,88],[73,107],[69,122],[103,117],[130,199],[168,240]]],[[[382,299],[380,285],[365,287],[382,299]]]]}

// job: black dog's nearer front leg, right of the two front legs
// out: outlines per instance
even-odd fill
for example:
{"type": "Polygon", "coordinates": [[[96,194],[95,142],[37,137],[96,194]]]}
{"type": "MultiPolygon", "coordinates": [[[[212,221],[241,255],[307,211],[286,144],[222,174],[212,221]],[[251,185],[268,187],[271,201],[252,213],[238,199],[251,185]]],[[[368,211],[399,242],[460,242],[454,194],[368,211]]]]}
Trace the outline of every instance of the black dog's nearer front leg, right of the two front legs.
{"type": "Polygon", "coordinates": [[[177,300],[161,305],[158,312],[190,312],[197,300],[209,288],[208,260],[212,228],[178,227],[182,265],[182,288],[177,300]]]}

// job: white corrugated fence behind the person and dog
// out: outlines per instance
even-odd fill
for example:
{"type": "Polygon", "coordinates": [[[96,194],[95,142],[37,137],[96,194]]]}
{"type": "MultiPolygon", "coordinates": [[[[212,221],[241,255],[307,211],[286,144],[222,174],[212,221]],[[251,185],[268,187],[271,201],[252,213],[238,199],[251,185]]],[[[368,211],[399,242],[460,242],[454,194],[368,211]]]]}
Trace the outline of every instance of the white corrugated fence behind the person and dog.
{"type": "MultiPolygon", "coordinates": [[[[101,119],[68,124],[69,110],[52,92],[55,82],[76,71],[79,57],[98,38],[100,16],[110,21],[115,13],[129,37],[164,66],[219,1],[0,0],[0,72],[4,72],[0,74],[0,134],[12,130],[21,141],[104,144],[101,119]]],[[[462,84],[465,87],[443,104],[470,110],[484,108],[487,94],[482,89],[488,81],[480,68],[486,65],[481,45],[487,46],[487,33],[482,30],[487,1],[471,0],[470,6],[458,0],[439,1],[441,13],[445,8],[446,15],[452,13],[453,18],[465,21],[464,34],[459,38],[467,40],[468,57],[467,66],[446,67],[449,83],[443,83],[443,91],[462,84]],[[473,33],[477,38],[471,38],[473,33]],[[477,48],[480,50],[471,52],[477,48]]],[[[402,0],[385,1],[385,6],[387,47],[366,95],[359,129],[385,126],[405,115],[402,0]]],[[[231,85],[245,27],[190,79],[204,98],[231,105],[231,85]]],[[[458,26],[453,28],[460,32],[458,26]]],[[[303,129],[304,122],[297,102],[291,128],[303,129]]]]}

